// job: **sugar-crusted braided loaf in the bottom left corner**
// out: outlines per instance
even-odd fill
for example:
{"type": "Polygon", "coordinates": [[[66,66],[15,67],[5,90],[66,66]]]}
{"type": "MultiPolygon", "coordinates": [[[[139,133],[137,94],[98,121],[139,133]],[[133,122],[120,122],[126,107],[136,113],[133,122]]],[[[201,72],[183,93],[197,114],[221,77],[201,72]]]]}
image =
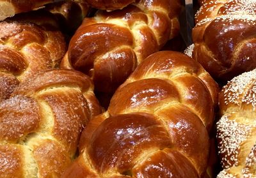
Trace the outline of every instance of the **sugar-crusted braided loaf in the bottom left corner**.
{"type": "Polygon", "coordinates": [[[99,113],[83,73],[49,70],[20,84],[0,103],[0,177],[60,177],[99,113]]]}

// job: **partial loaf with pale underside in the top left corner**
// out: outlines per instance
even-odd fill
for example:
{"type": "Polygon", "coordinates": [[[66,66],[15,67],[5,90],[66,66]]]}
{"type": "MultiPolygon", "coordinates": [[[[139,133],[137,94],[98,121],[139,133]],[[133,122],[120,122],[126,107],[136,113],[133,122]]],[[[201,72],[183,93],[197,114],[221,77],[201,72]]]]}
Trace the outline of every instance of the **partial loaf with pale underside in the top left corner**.
{"type": "Polygon", "coordinates": [[[35,10],[41,8],[47,3],[53,3],[61,0],[0,0],[0,20],[12,17],[16,13],[35,10]]]}

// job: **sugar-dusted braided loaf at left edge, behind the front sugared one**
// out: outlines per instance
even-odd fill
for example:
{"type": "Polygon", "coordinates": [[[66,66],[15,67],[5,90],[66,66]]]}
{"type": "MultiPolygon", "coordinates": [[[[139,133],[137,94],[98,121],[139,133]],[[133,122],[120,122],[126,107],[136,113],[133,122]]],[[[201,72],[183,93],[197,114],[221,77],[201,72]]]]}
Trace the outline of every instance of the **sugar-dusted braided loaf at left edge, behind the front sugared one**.
{"type": "Polygon", "coordinates": [[[65,48],[63,35],[52,27],[0,22],[0,101],[9,98],[20,82],[58,66],[65,48]]]}

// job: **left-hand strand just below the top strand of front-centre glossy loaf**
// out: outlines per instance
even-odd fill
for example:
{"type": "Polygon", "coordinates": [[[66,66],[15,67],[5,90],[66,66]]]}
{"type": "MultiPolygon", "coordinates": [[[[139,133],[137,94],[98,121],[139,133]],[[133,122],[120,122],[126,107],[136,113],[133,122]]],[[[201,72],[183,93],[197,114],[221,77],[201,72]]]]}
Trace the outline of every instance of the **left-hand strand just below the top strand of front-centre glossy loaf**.
{"type": "Polygon", "coordinates": [[[150,108],[159,101],[170,100],[179,102],[180,94],[174,84],[158,78],[148,78],[127,84],[116,91],[111,98],[108,112],[110,115],[125,112],[127,108],[150,108]],[[131,100],[132,99],[132,100],[131,100]],[[122,103],[122,104],[121,104],[122,103]],[[116,107],[116,106],[120,107],[116,107]]]}

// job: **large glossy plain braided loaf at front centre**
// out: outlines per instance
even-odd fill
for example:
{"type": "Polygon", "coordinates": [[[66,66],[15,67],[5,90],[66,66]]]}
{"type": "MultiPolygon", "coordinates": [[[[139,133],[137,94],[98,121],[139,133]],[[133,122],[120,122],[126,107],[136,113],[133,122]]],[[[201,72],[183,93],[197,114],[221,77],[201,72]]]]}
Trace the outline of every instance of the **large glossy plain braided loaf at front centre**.
{"type": "Polygon", "coordinates": [[[218,86],[193,59],[162,51],[118,87],[92,119],[63,177],[201,177],[218,86]]]}

